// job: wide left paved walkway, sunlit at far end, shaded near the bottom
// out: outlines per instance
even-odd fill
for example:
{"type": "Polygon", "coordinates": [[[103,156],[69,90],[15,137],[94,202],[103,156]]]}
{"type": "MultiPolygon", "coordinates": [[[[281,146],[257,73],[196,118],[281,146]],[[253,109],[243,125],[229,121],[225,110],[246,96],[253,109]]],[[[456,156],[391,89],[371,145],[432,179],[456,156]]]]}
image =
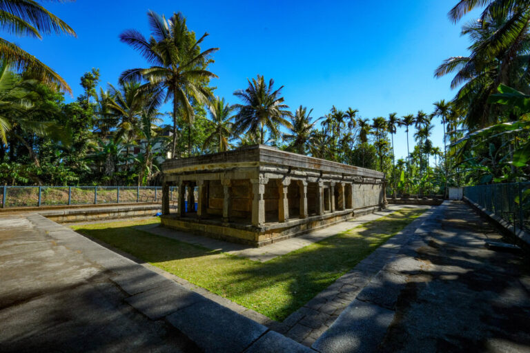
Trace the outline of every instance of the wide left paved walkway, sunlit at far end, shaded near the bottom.
{"type": "Polygon", "coordinates": [[[2,353],[310,352],[39,214],[0,217],[0,283],[2,353]]]}

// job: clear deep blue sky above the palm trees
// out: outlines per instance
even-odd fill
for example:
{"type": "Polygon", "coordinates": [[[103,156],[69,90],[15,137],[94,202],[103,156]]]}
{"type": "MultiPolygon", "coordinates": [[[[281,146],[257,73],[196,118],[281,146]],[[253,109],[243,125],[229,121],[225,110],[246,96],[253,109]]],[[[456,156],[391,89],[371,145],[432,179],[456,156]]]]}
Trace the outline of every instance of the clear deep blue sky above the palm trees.
{"type": "MultiPolygon", "coordinates": [[[[286,103],[313,108],[320,117],[332,105],[360,110],[362,117],[432,112],[451,99],[450,77],[434,79],[443,59],[467,54],[469,41],[447,12],[456,0],[402,1],[142,1],[78,0],[45,6],[77,32],[73,37],[16,39],[68,81],[74,97],[79,77],[91,68],[101,83],[115,84],[128,68],[145,67],[119,33],[135,28],[148,36],[146,12],[182,12],[202,48],[218,47],[210,70],[219,76],[215,94],[236,103],[234,90],[263,74],[284,85],[286,103]],[[199,5],[200,3],[200,5],[199,5]]],[[[464,21],[472,18],[470,15],[464,21]]],[[[167,110],[169,110],[168,108],[167,110]]],[[[433,142],[443,146],[435,122],[433,142]]],[[[411,137],[412,143],[412,137],[411,137]]],[[[396,157],[406,156],[403,130],[394,138],[396,157]]]]}

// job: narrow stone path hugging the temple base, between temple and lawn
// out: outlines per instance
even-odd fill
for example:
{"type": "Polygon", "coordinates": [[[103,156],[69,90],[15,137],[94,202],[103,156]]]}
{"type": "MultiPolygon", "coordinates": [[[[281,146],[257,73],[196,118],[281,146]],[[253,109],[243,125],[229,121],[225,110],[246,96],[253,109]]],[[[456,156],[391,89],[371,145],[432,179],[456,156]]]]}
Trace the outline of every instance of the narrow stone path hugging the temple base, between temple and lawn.
{"type": "Polygon", "coordinates": [[[278,243],[266,245],[262,248],[251,248],[247,245],[234,244],[229,243],[228,241],[208,238],[208,236],[171,230],[157,224],[139,225],[136,228],[150,232],[152,234],[166,236],[170,239],[184,241],[185,243],[201,245],[204,248],[220,250],[235,256],[247,257],[253,261],[264,262],[272,260],[277,256],[282,256],[288,254],[289,252],[304,248],[307,245],[316,243],[322,239],[326,239],[329,236],[350,230],[351,228],[357,227],[357,225],[361,225],[369,221],[375,221],[375,219],[391,214],[397,210],[401,210],[402,208],[429,208],[429,206],[389,205],[389,208],[386,210],[380,210],[369,214],[363,214],[362,216],[356,216],[355,218],[349,219],[348,221],[340,222],[319,230],[314,230],[308,234],[303,234],[295,238],[279,241],[278,243]]]}

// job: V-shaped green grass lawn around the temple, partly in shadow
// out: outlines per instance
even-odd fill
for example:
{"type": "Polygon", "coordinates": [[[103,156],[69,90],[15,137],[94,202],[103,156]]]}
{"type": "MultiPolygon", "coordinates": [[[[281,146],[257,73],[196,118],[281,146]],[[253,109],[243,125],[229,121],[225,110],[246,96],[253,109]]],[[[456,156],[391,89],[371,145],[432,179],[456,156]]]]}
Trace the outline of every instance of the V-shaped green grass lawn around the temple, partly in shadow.
{"type": "Polygon", "coordinates": [[[424,211],[393,212],[265,263],[132,228],[158,223],[157,219],[72,228],[230,301],[283,321],[424,211]]]}

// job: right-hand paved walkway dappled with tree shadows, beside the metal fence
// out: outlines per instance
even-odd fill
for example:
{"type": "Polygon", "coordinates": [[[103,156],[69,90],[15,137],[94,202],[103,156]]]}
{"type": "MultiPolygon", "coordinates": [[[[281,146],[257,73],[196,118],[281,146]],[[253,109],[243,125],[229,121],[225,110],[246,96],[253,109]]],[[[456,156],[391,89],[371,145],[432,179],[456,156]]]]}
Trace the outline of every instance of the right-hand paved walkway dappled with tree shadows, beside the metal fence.
{"type": "Polygon", "coordinates": [[[530,268],[469,205],[446,201],[312,345],[340,352],[530,352],[530,268]]]}

